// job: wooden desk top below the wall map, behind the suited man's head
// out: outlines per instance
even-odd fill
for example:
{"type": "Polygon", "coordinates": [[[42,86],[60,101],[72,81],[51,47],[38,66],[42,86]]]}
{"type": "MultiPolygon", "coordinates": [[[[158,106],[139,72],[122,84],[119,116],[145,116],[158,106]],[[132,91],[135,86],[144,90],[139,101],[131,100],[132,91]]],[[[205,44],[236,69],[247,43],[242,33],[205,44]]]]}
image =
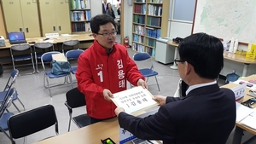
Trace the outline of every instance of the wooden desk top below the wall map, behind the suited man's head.
{"type": "MultiPolygon", "coordinates": [[[[178,43],[174,43],[172,40],[169,40],[167,43],[174,47],[178,46],[178,43]]],[[[246,60],[245,54],[238,55],[238,54],[230,53],[228,51],[224,51],[223,55],[224,55],[224,59],[226,60],[233,60],[233,61],[241,62],[245,64],[256,64],[256,60],[246,60]]]]}

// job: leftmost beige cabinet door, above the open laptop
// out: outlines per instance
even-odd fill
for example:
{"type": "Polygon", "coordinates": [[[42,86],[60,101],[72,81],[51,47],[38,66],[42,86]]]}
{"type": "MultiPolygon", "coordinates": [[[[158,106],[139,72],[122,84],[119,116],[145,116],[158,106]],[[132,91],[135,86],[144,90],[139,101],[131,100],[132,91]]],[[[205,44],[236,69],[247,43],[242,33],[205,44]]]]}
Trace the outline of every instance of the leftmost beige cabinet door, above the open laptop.
{"type": "MultiPolygon", "coordinates": [[[[3,0],[3,14],[7,32],[19,32],[23,28],[19,0],[3,0]]],[[[24,31],[24,30],[23,30],[24,31]]]]}

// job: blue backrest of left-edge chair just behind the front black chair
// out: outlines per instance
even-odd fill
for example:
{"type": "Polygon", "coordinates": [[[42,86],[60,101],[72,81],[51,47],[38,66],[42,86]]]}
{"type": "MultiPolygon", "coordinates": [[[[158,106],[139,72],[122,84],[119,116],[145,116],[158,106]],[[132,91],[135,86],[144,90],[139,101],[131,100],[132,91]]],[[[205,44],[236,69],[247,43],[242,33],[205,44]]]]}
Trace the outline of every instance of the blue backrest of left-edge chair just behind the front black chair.
{"type": "Polygon", "coordinates": [[[6,93],[0,107],[0,119],[3,117],[3,113],[5,112],[5,110],[11,105],[13,96],[15,95],[15,93],[16,93],[15,88],[9,89],[9,91],[6,93]]]}

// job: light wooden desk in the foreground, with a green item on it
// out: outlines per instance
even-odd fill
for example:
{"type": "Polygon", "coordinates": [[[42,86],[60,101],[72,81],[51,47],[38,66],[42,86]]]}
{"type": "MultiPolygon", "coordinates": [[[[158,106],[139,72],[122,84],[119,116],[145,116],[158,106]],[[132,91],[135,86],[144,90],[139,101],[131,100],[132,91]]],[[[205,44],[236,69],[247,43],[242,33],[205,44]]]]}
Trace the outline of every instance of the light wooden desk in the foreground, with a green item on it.
{"type": "Polygon", "coordinates": [[[44,141],[38,141],[35,144],[101,144],[101,139],[104,140],[108,137],[114,142],[119,143],[119,124],[117,118],[91,124],[44,141]]]}

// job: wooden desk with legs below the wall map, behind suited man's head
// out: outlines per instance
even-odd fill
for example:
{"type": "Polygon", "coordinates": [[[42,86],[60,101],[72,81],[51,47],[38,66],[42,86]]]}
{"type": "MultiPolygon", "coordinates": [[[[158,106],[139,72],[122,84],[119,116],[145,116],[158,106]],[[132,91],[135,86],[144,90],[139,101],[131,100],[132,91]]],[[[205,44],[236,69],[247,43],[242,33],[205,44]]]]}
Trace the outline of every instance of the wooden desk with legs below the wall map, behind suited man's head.
{"type": "MultiPolygon", "coordinates": [[[[174,42],[172,42],[172,40],[169,40],[167,43],[175,47],[174,59],[176,59],[178,43],[174,43],[174,42]]],[[[226,59],[226,60],[232,60],[232,61],[236,61],[236,62],[240,62],[240,63],[244,64],[242,74],[241,74],[242,77],[247,76],[247,70],[248,70],[248,66],[250,64],[256,64],[256,60],[246,60],[245,54],[238,55],[238,54],[230,53],[228,51],[224,51],[223,55],[224,55],[224,59],[226,59]]],[[[177,65],[175,64],[175,62],[173,63],[173,66],[171,66],[171,68],[177,69],[177,65]]]]}

